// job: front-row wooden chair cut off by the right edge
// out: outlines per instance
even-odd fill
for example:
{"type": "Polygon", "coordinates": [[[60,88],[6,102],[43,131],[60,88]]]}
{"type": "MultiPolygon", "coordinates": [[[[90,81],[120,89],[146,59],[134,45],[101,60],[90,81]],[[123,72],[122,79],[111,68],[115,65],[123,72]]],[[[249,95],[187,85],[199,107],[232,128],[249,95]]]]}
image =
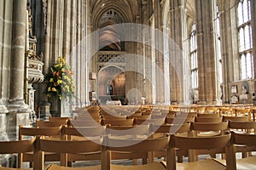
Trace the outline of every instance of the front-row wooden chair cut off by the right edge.
{"type": "MultiPolygon", "coordinates": [[[[256,150],[256,135],[247,133],[232,133],[231,144],[226,153],[226,167],[227,170],[233,169],[256,169],[256,156],[249,156],[247,158],[236,158],[236,145],[245,145],[247,151],[256,150]]],[[[221,161],[225,163],[224,161],[221,161]]]]}

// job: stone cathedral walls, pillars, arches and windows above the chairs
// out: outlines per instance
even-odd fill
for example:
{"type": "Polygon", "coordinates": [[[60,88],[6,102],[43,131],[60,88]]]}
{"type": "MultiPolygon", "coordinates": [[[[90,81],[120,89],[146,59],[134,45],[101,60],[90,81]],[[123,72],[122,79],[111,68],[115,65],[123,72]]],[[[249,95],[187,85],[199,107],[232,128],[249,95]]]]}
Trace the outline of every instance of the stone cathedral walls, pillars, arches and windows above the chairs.
{"type": "Polygon", "coordinates": [[[254,0],[0,3],[0,140],[90,105],[256,101],[254,0]]]}

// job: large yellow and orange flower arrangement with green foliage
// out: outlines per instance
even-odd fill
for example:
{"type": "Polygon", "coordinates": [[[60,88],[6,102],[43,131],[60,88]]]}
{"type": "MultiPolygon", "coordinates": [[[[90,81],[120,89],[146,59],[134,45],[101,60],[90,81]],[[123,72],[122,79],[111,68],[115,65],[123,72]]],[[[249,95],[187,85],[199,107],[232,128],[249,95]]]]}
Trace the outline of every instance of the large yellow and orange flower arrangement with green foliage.
{"type": "Polygon", "coordinates": [[[73,71],[70,71],[70,65],[62,57],[58,57],[58,62],[50,67],[45,80],[48,81],[46,95],[49,98],[66,99],[74,96],[73,71]]]}

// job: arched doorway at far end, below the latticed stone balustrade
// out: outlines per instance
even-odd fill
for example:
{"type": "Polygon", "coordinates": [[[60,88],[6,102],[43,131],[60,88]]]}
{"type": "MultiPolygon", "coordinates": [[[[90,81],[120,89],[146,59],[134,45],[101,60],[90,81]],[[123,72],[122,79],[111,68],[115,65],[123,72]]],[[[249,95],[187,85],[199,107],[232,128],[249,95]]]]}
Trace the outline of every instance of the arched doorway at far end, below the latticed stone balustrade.
{"type": "Polygon", "coordinates": [[[125,72],[115,65],[102,67],[97,75],[98,99],[102,105],[108,100],[120,100],[125,105],[125,72]]]}

